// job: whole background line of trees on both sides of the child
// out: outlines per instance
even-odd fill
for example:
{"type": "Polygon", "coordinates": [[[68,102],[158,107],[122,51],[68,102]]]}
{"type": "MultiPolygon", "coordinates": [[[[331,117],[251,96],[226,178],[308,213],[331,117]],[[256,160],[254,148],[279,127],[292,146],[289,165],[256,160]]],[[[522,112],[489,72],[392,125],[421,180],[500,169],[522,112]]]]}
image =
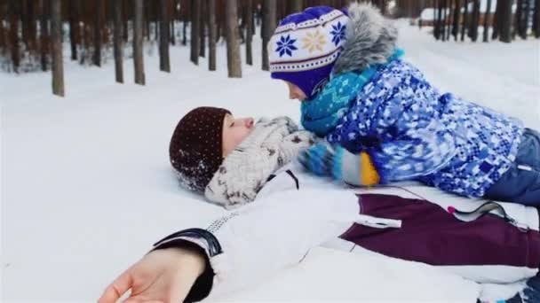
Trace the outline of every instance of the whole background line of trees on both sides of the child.
{"type": "MultiPolygon", "coordinates": [[[[145,84],[145,45],[157,45],[159,68],[171,72],[171,47],[190,48],[190,60],[208,56],[216,70],[216,44],[226,43],[229,77],[242,77],[242,62],[253,65],[252,42],[260,27],[266,45],[278,22],[309,6],[343,8],[370,2],[392,17],[417,18],[433,10],[433,35],[473,41],[478,27],[493,27],[491,38],[510,42],[540,34],[540,0],[499,0],[496,12],[480,13],[480,3],[496,0],[0,0],[0,69],[52,71],[53,93],[64,94],[64,55],[81,65],[115,62],[115,81],[124,82],[123,64],[132,60],[133,81],[145,84]],[[513,5],[513,6],[512,6],[513,5]],[[513,7],[513,8],[512,8],[513,7]],[[243,44],[243,46],[242,46],[243,44]],[[241,58],[245,47],[245,58],[241,58]],[[66,53],[67,52],[67,53],[66,53]]],[[[490,5],[490,4],[488,4],[490,5]]],[[[483,33],[488,40],[488,31],[483,33]]],[[[150,47],[150,50],[152,48],[150,47]]],[[[266,47],[260,67],[268,70],[266,47]]],[[[157,67],[157,66],[156,66],[157,67]]],[[[177,69],[174,66],[174,69],[177,69]]],[[[181,66],[178,67],[181,69],[181,66]]],[[[181,72],[181,71],[180,71],[181,72]]]]}

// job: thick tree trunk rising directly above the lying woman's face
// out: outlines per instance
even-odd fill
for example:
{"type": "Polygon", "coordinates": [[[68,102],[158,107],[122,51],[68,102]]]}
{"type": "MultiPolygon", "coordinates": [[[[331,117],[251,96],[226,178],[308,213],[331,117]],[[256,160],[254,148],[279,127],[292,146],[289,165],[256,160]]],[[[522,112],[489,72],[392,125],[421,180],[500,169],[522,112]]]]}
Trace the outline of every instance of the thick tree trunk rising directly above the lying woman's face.
{"type": "Polygon", "coordinates": [[[238,41],[238,5],[236,0],[226,0],[226,67],[229,78],[242,78],[240,42],[238,41]]]}

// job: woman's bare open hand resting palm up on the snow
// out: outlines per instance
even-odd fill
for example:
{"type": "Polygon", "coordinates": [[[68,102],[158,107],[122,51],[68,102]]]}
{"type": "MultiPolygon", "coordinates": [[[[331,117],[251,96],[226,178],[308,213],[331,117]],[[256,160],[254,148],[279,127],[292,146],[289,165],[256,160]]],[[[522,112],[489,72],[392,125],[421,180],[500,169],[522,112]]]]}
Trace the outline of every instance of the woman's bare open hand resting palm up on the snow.
{"type": "Polygon", "coordinates": [[[114,303],[125,292],[124,302],[183,302],[198,276],[203,273],[203,256],[179,248],[148,253],[110,284],[99,303],[114,303]]]}

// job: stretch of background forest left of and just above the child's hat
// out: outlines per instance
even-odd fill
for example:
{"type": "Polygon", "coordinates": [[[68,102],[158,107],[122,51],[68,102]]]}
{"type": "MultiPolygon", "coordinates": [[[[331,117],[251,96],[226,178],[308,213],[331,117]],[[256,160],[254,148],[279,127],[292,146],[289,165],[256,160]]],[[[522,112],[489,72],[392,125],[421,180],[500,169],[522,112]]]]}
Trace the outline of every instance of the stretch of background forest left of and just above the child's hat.
{"type": "MultiPolygon", "coordinates": [[[[134,82],[145,84],[143,46],[158,44],[159,68],[171,72],[169,48],[189,44],[190,59],[209,57],[226,41],[229,77],[242,77],[241,44],[253,65],[252,37],[261,27],[267,43],[280,19],[309,6],[345,7],[351,0],[0,0],[0,68],[21,73],[52,71],[54,94],[64,95],[63,52],[82,65],[115,60],[123,83],[124,58],[132,58],[134,82]],[[188,34],[189,33],[189,34],[188,34]],[[189,35],[189,37],[187,36],[189,35]],[[124,54],[128,51],[131,53],[124,54]]],[[[387,0],[371,0],[385,12],[387,0]]],[[[261,68],[268,70],[266,47],[261,68]]]]}

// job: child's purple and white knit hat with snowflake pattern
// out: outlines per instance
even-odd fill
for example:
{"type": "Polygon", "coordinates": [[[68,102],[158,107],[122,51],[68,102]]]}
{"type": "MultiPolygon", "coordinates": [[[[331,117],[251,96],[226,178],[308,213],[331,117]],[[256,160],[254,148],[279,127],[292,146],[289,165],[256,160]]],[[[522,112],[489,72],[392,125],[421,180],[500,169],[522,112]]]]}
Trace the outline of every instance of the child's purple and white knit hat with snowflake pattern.
{"type": "Polygon", "coordinates": [[[313,97],[342,51],[348,20],[344,12],[328,6],[283,19],[268,43],[272,78],[291,82],[313,97]]]}

